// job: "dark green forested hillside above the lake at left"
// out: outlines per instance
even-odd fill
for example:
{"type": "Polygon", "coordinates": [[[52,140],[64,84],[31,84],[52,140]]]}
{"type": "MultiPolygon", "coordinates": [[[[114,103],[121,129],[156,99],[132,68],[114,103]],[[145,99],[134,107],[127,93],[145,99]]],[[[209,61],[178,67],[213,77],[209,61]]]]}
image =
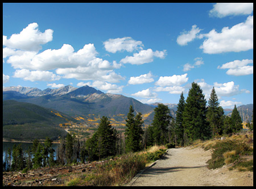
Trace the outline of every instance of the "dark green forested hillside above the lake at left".
{"type": "Polygon", "coordinates": [[[3,101],[3,138],[6,140],[56,140],[67,132],[59,124],[76,122],[72,117],[31,103],[3,101]]]}

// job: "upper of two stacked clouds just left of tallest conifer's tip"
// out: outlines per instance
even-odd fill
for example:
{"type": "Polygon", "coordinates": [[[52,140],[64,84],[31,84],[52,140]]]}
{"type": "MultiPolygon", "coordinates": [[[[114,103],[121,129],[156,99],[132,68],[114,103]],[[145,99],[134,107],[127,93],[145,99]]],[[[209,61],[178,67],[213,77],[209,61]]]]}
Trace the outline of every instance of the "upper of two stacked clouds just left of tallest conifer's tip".
{"type": "Polygon", "coordinates": [[[161,87],[164,86],[180,86],[188,81],[187,73],[183,75],[172,75],[172,76],[164,76],[160,77],[158,81],[155,82],[155,85],[159,85],[161,87]]]}

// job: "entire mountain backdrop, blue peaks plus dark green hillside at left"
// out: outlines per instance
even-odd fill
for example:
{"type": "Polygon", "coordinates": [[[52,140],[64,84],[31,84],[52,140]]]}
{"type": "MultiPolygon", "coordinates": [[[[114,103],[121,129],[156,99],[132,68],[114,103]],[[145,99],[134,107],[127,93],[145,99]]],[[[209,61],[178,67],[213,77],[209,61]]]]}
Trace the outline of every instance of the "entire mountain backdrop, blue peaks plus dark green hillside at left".
{"type": "MultiPolygon", "coordinates": [[[[67,126],[96,127],[102,116],[107,116],[114,127],[123,128],[130,105],[136,114],[142,113],[143,125],[148,127],[158,104],[143,104],[134,98],[105,94],[89,86],[76,88],[68,85],[43,91],[31,87],[5,87],[3,138],[34,140],[49,136],[56,140],[66,135],[64,129],[67,126]]],[[[175,118],[177,104],[165,105],[175,118]]],[[[251,121],[253,104],[242,105],[237,109],[243,122],[251,121]]],[[[232,109],[224,109],[224,113],[230,116],[232,109]]]]}

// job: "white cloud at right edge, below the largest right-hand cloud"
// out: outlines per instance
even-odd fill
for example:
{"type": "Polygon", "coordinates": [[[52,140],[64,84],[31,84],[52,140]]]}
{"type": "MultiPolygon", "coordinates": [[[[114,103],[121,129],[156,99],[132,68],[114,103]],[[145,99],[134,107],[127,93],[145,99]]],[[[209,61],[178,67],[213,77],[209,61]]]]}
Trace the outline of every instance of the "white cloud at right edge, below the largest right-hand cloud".
{"type": "Polygon", "coordinates": [[[235,60],[218,66],[218,69],[228,69],[226,74],[228,75],[249,75],[253,74],[253,66],[247,66],[247,64],[252,64],[253,60],[235,60]]]}

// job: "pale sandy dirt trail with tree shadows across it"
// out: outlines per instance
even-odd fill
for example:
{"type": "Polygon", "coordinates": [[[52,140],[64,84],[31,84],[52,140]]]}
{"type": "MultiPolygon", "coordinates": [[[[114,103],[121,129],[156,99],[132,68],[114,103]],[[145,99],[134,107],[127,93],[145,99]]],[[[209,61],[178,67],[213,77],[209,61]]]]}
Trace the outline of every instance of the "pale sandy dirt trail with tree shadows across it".
{"type": "Polygon", "coordinates": [[[154,166],[137,175],[128,186],[253,186],[253,172],[209,170],[210,150],[173,148],[154,166]]]}

